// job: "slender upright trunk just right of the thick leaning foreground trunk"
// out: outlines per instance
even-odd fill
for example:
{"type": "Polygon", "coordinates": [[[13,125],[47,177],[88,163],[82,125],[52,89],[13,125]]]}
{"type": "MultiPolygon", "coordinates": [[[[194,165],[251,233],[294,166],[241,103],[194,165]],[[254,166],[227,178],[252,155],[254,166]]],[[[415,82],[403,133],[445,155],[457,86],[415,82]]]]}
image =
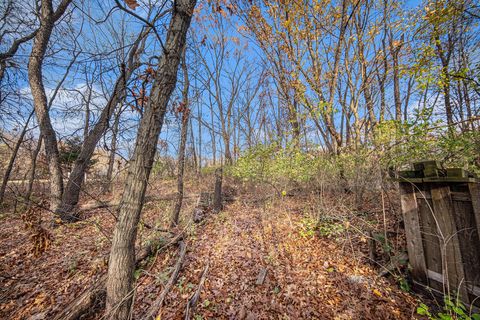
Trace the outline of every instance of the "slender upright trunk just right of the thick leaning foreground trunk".
{"type": "Polygon", "coordinates": [[[183,50],[182,58],[182,69],[183,69],[183,91],[182,91],[182,105],[183,113],[182,117],[182,130],[180,134],[180,147],[178,149],[178,173],[177,173],[177,195],[175,199],[175,206],[173,207],[172,212],[172,221],[170,222],[170,227],[175,227],[178,224],[178,218],[180,217],[180,210],[182,209],[183,203],[183,173],[185,171],[185,147],[187,144],[187,133],[188,133],[188,121],[190,115],[189,101],[188,101],[188,70],[185,61],[185,48],[183,50]]]}

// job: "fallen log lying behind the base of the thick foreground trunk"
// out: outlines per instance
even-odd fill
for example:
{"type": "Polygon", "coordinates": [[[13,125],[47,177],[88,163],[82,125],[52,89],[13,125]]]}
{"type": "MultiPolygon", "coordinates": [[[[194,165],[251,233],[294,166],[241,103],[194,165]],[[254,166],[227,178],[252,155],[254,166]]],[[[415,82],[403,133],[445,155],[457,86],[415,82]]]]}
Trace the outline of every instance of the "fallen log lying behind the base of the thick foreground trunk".
{"type": "MultiPolygon", "coordinates": [[[[151,256],[154,252],[165,250],[169,246],[178,243],[183,238],[183,232],[171,239],[156,239],[149,241],[149,244],[138,251],[135,259],[136,265],[151,256]]],[[[95,284],[85,289],[83,293],[65,307],[54,320],[74,320],[87,313],[93,313],[105,305],[107,275],[103,275],[95,284]]]]}

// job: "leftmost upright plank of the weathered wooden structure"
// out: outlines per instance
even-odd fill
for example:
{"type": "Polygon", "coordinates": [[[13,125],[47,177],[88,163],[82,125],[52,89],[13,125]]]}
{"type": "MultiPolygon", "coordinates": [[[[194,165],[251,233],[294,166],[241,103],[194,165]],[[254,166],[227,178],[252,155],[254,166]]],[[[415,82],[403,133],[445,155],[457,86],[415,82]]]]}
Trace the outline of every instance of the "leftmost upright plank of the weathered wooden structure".
{"type": "Polygon", "coordinates": [[[417,281],[428,284],[417,199],[414,186],[411,183],[400,183],[400,202],[407,236],[408,260],[412,266],[412,277],[417,281]]]}

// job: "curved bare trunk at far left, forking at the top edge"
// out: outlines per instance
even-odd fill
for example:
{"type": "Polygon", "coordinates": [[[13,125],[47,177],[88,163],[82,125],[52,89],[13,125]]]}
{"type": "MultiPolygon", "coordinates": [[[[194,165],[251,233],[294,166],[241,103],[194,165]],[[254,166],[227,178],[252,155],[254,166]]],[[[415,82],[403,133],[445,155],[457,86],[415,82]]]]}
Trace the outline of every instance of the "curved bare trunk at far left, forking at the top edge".
{"type": "Polygon", "coordinates": [[[32,52],[28,61],[28,80],[32,91],[33,106],[45,142],[45,153],[50,171],[50,207],[56,210],[63,192],[62,169],[57,146],[57,137],[48,113],[47,96],[43,85],[42,64],[55,22],[65,13],[72,0],[62,0],[57,10],[53,10],[51,0],[43,0],[40,5],[40,27],[35,35],[32,52]]]}

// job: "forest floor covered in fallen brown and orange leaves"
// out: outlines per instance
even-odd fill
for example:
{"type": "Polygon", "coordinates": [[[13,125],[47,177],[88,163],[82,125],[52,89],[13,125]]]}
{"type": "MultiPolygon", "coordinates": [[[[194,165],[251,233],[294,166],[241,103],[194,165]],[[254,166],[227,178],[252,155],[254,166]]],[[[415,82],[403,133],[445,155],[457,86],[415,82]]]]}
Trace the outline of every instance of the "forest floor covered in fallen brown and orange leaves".
{"type": "MultiPolygon", "coordinates": [[[[186,194],[205,191],[207,185],[189,183],[186,194]]],[[[155,201],[155,196],[172,193],[174,187],[170,181],[150,188],[153,201],[145,205],[144,222],[167,225],[172,201],[155,201]]],[[[318,210],[318,196],[271,198],[253,190],[237,195],[222,212],[193,224],[189,221],[195,201],[193,196],[185,199],[179,229],[186,232],[187,254],[160,310],[161,319],[183,319],[207,265],[193,319],[416,317],[417,297],[401,290],[391,277],[379,276],[378,268],[368,263],[367,241],[359,231],[371,224],[365,224],[366,218],[331,224],[321,235],[313,230],[311,218],[311,211],[318,210]],[[262,271],[266,276],[258,284],[262,271]]],[[[342,199],[332,199],[335,202],[342,199]]],[[[333,211],[339,210],[329,214],[333,211]]],[[[44,215],[48,221],[48,214],[44,215]]],[[[152,235],[143,225],[139,246],[152,235]]],[[[50,319],[62,310],[106,272],[113,226],[109,210],[93,210],[81,222],[50,228],[52,243],[35,257],[21,215],[3,213],[0,318],[50,319]]],[[[136,272],[135,319],[142,319],[162,291],[177,251],[172,246],[136,272]]]]}

